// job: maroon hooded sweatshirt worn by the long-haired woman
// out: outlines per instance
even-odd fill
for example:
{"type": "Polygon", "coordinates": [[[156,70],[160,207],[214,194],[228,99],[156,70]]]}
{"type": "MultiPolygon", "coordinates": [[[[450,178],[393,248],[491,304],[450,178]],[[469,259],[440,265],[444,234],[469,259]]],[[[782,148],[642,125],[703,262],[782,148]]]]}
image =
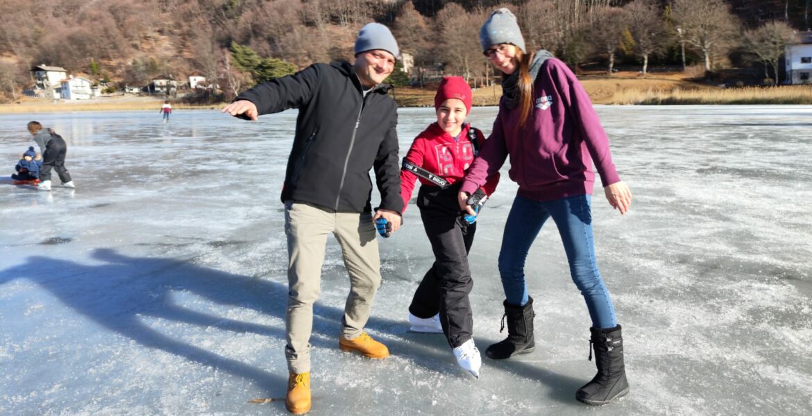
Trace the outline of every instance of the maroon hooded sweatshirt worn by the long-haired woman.
{"type": "Polygon", "coordinates": [[[592,194],[596,166],[604,186],[620,182],[590,97],[572,71],[556,58],[542,63],[533,84],[533,107],[518,129],[519,109],[504,96],[494,130],[473,161],[460,191],[485,184],[510,156],[510,178],[518,194],[537,201],[592,194]]]}

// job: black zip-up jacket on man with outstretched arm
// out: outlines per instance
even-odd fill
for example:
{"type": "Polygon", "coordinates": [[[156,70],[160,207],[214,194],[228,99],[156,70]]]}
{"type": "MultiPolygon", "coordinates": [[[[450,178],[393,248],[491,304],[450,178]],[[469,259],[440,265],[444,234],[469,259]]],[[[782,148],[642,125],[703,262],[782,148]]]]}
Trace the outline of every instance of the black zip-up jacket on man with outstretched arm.
{"type": "MultiPolygon", "coordinates": [[[[282,201],[307,202],[338,212],[370,212],[375,171],[380,208],[403,210],[400,199],[397,105],[378,85],[366,96],[348,62],[317,63],[259,84],[236,97],[259,114],[298,108],[296,137],[282,201]]],[[[243,117],[247,118],[247,117],[243,117]]]]}

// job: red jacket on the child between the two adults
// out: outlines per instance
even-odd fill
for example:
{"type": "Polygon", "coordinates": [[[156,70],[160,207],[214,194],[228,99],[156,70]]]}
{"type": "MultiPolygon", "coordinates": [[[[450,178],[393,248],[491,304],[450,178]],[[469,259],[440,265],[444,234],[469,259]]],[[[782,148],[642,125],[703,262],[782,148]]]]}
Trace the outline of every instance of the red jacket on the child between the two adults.
{"type": "MultiPolygon", "coordinates": [[[[451,135],[443,131],[437,122],[431,123],[414,139],[412,147],[408,149],[406,157],[404,157],[404,161],[409,161],[412,165],[426,169],[432,174],[444,178],[449,183],[463,179],[465,172],[473,163],[473,147],[468,139],[469,128],[469,124],[466,123],[455,140],[451,135]]],[[[485,137],[481,131],[477,131],[477,139],[479,140],[479,148],[482,148],[482,144],[485,144],[485,137]]],[[[420,179],[424,187],[437,187],[427,179],[420,178],[406,169],[400,169],[400,197],[404,200],[404,212],[408,200],[412,198],[416,179],[420,179]]],[[[485,185],[482,186],[482,191],[485,191],[485,194],[490,196],[496,191],[497,183],[499,183],[499,172],[488,178],[485,185]]]]}

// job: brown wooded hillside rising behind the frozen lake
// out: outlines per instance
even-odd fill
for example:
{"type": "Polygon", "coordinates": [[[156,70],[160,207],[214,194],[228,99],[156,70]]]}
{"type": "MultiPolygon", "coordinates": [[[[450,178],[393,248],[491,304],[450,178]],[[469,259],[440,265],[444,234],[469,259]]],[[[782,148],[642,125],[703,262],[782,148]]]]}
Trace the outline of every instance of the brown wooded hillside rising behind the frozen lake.
{"type": "Polygon", "coordinates": [[[131,85],[164,74],[182,79],[192,71],[224,79],[235,71],[232,42],[297,67],[352,59],[356,33],[369,21],[392,28],[417,65],[482,76],[489,70],[478,31],[497,6],[508,6],[520,16],[529,48],[550,49],[573,66],[622,60],[645,71],[649,62],[676,65],[677,45],[685,45],[689,61],[708,66],[727,65],[748,54],[750,62],[767,66],[741,49],[745,30],[769,21],[805,30],[810,1],[3,0],[0,88],[27,88],[32,84],[28,69],[37,64],[131,85]],[[715,9],[713,45],[697,37],[706,23],[694,22],[699,17],[689,11],[698,5],[715,9]],[[636,17],[628,19],[630,13],[636,17]],[[641,21],[646,24],[640,26],[641,21]],[[678,37],[676,28],[684,37],[678,37]]]}

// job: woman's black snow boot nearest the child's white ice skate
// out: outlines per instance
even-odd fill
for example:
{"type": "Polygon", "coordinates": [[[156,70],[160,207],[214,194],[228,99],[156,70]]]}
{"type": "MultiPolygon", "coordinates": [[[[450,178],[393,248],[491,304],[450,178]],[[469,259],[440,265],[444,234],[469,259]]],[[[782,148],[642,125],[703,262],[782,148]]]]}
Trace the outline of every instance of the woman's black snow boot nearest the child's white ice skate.
{"type": "Polygon", "coordinates": [[[529,298],[524,307],[516,307],[506,300],[504,302],[505,315],[502,317],[502,332],[505,320],[508,320],[508,337],[494,345],[490,345],[485,354],[495,360],[510,358],[516,354],[532,353],[536,348],[533,340],[533,298],[529,298]]]}

